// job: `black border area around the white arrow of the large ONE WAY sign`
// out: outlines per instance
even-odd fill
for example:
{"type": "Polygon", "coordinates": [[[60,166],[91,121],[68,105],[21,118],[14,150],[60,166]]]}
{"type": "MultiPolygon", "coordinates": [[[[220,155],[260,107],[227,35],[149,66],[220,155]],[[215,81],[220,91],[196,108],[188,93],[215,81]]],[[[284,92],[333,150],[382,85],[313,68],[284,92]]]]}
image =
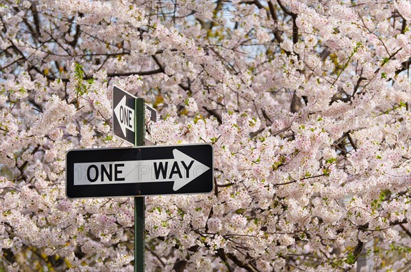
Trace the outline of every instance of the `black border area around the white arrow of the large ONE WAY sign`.
{"type": "Polygon", "coordinates": [[[91,148],[73,149],[66,152],[67,198],[127,198],[153,195],[190,195],[212,193],[212,191],[214,191],[214,152],[210,144],[91,148]],[[177,191],[173,191],[174,182],[172,181],[113,185],[74,185],[74,163],[173,159],[174,149],[187,154],[200,163],[203,163],[203,165],[210,167],[210,169],[177,191]],[[210,161],[212,162],[211,165],[210,161]]]}

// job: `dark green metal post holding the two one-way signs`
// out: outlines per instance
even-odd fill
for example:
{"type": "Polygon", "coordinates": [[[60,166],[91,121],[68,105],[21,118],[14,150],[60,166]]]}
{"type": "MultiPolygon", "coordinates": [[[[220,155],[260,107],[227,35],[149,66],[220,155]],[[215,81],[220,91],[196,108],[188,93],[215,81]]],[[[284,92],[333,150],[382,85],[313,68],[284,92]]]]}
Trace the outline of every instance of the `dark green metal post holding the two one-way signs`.
{"type": "MultiPolygon", "coordinates": [[[[136,125],[134,146],[144,146],[145,139],[145,103],[143,98],[136,98],[134,110],[136,125]]],[[[144,197],[134,197],[134,272],[144,272],[144,234],[145,201],[144,197]]]]}

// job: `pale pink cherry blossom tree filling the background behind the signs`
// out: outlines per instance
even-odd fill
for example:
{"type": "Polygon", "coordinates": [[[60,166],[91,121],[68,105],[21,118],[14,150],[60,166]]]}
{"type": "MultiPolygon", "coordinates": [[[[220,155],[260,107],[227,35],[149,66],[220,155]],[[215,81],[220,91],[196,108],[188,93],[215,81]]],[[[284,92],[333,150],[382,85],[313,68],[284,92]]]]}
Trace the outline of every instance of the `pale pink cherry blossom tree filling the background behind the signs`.
{"type": "Polygon", "coordinates": [[[146,199],[147,271],[408,271],[410,21],[408,0],[1,1],[0,271],[132,270],[132,199],[64,193],[67,150],[127,146],[113,85],[157,109],[151,141],[214,147],[213,193],[146,199]]]}

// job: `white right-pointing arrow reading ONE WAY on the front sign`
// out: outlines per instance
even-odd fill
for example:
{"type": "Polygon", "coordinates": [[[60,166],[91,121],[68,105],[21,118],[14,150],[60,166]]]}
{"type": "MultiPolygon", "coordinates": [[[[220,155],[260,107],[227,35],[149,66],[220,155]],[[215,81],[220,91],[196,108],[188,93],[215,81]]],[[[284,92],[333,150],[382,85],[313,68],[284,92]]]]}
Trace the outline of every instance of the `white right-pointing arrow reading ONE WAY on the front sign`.
{"type": "Polygon", "coordinates": [[[163,160],[75,163],[74,185],[173,181],[173,190],[177,191],[210,169],[177,149],[173,150],[173,157],[163,160]]]}

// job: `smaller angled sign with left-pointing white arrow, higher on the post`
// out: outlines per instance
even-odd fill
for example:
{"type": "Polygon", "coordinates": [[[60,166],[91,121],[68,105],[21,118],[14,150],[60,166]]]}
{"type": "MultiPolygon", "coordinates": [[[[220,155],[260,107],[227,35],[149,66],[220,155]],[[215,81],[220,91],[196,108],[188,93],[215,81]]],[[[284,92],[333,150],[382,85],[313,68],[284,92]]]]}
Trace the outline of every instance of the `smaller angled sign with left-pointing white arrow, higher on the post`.
{"type": "MultiPolygon", "coordinates": [[[[151,112],[151,120],[157,120],[157,112],[149,105],[146,108],[151,112]]],[[[136,96],[121,90],[119,87],[113,87],[113,133],[116,137],[127,141],[129,144],[135,144],[134,135],[136,133],[135,117],[139,113],[136,110],[136,96]],[[137,114],[137,115],[136,115],[137,114]]]]}

